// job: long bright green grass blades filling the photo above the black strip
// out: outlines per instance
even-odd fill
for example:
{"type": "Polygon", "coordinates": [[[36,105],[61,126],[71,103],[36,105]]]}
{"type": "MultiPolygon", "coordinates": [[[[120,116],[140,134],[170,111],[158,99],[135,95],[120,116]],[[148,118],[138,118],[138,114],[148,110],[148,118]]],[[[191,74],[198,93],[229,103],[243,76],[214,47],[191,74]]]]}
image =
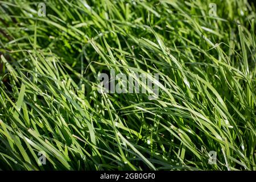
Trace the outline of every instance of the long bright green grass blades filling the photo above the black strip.
{"type": "Polygon", "coordinates": [[[253,2],[38,3],[0,1],[0,169],[256,169],[253,2]],[[98,93],[110,69],[159,97],[98,93]]]}

